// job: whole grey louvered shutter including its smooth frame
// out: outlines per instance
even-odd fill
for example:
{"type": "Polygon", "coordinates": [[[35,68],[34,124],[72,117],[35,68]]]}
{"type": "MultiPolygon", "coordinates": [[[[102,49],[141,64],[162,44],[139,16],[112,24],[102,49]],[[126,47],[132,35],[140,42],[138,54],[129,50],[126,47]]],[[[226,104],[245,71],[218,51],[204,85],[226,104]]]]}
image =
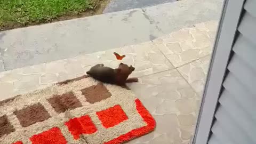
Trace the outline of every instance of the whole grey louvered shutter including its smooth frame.
{"type": "Polygon", "coordinates": [[[226,1],[214,51],[193,143],[256,143],[256,0],[226,1]]]}

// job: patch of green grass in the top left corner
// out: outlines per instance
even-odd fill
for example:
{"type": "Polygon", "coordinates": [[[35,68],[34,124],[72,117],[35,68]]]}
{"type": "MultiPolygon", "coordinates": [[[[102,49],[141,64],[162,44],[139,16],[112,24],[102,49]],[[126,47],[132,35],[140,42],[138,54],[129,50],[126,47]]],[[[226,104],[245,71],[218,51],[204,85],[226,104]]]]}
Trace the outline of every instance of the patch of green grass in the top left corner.
{"type": "Polygon", "coordinates": [[[93,9],[99,0],[0,0],[0,28],[43,23],[93,9]]]}

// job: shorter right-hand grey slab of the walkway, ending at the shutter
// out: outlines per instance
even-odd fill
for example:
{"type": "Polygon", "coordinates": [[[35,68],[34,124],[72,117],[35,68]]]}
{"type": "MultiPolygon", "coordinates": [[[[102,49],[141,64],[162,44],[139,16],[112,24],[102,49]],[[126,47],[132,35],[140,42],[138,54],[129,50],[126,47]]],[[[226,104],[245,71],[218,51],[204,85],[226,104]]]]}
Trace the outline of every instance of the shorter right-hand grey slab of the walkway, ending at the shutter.
{"type": "Polygon", "coordinates": [[[196,23],[219,20],[223,0],[182,0],[175,3],[145,7],[148,17],[158,28],[169,34],[196,23]]]}

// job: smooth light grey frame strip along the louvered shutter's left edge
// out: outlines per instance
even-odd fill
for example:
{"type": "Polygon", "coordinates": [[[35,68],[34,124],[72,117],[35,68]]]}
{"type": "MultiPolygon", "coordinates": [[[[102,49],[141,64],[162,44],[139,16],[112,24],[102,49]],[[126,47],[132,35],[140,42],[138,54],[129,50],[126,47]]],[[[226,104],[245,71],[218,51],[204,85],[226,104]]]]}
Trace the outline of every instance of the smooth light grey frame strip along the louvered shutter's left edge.
{"type": "Polygon", "coordinates": [[[215,109],[218,106],[222,82],[226,75],[234,38],[245,0],[224,0],[218,32],[207,74],[193,144],[206,144],[211,134],[215,109]]]}

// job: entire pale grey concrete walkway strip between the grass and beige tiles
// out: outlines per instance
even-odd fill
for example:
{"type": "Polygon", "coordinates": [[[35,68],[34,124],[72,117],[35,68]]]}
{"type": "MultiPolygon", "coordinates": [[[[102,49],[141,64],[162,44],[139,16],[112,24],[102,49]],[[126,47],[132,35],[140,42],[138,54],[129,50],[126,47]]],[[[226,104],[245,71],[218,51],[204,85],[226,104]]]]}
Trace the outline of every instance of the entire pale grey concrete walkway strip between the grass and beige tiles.
{"type": "Polygon", "coordinates": [[[223,0],[182,0],[0,32],[0,71],[147,42],[218,20],[223,0]]]}

